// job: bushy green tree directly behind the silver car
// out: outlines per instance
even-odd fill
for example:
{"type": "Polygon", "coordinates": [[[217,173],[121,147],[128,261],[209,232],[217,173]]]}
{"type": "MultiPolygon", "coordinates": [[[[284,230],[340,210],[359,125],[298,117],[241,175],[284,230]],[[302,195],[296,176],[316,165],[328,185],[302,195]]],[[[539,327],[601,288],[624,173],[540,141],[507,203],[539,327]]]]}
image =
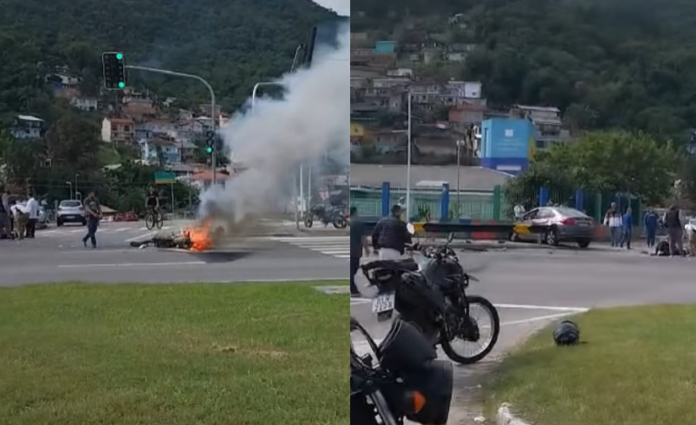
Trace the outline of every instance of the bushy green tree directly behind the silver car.
{"type": "Polygon", "coordinates": [[[504,187],[512,205],[537,203],[537,191],[628,193],[648,202],[669,196],[680,158],[671,145],[645,133],[590,133],[577,143],[556,145],[539,153],[527,171],[504,187]]]}

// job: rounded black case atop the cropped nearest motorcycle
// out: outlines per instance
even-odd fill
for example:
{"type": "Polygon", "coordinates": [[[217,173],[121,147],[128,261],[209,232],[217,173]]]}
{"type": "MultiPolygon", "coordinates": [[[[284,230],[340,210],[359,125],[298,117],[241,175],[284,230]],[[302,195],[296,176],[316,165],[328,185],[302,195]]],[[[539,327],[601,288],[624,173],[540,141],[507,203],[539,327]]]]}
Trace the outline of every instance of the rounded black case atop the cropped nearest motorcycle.
{"type": "Polygon", "coordinates": [[[435,347],[413,325],[396,319],[379,345],[379,364],[392,372],[416,371],[437,358],[435,347]]]}

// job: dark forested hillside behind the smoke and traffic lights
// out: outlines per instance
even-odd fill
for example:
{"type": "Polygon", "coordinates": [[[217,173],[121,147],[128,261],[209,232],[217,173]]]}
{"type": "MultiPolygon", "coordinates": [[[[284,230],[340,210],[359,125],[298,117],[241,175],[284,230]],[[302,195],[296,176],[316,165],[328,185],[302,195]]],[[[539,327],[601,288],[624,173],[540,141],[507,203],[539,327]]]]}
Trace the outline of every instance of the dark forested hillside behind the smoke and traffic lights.
{"type": "MultiPolygon", "coordinates": [[[[236,109],[254,83],[287,72],[312,26],[334,16],[310,0],[115,0],[99,7],[0,0],[0,10],[0,114],[46,113],[45,102],[34,103],[47,94],[43,78],[56,65],[68,65],[83,77],[83,91],[96,95],[101,53],[110,50],[123,51],[127,64],[199,74],[223,107],[236,109]]],[[[160,97],[208,102],[197,82],[131,71],[133,84],[160,97]]]]}

